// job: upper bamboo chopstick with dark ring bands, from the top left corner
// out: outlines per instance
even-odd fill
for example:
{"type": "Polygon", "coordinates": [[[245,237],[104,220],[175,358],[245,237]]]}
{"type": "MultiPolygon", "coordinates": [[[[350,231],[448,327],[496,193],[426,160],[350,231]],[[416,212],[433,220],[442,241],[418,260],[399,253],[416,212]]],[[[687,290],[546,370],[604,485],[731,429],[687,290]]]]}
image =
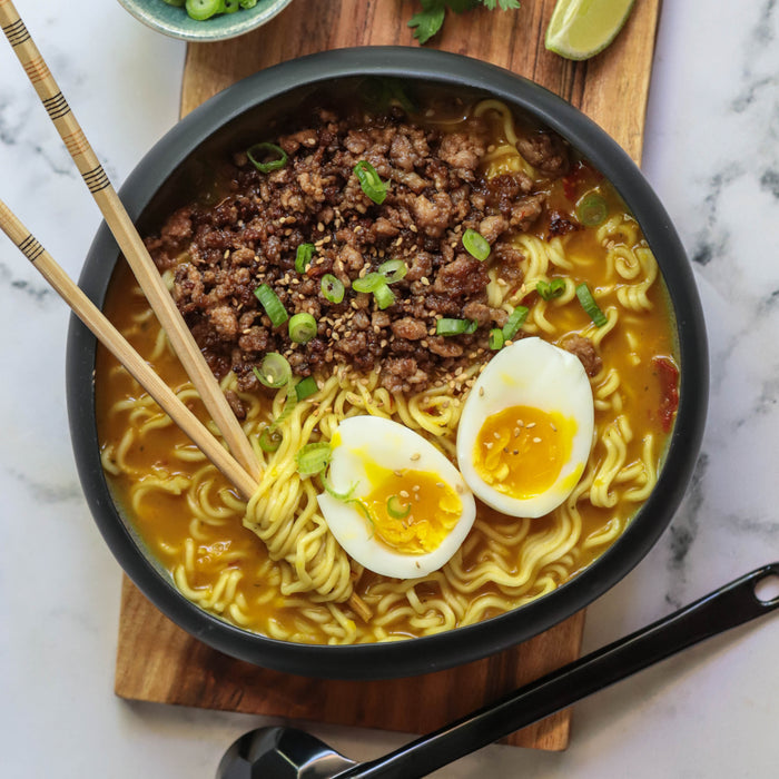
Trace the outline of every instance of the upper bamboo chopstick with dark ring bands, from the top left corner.
{"type": "Polygon", "coordinates": [[[208,413],[244,471],[257,479],[259,463],[252,445],[11,0],[0,0],[0,27],[59,131],[208,413]]]}

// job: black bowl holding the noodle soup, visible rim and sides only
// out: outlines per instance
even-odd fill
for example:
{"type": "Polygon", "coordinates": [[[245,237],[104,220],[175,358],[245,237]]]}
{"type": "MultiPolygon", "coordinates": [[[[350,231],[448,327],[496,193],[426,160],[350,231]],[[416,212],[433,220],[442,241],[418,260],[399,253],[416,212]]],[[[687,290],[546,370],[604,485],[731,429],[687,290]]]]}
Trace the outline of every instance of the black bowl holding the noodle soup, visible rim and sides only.
{"type": "MultiPolygon", "coordinates": [[[[559,132],[613,183],[641,224],[669,289],[678,329],[681,386],[676,427],[649,500],[611,549],[554,592],[502,617],[430,638],[348,647],[292,644],[249,633],[201,611],[145,553],[132,526],[117,511],[103,476],[95,418],[96,341],[73,321],[67,383],[79,475],[95,520],[130,579],[174,622],[227,654],[292,673],[352,679],[412,676],[477,660],[530,639],[604,593],[638,564],[670,522],[696,463],[708,398],[706,332],[690,265],[668,215],[639,169],[569,103],[538,85],[476,60],[435,50],[369,48],[315,55],[259,72],[209,100],[148,152],[121,188],[130,216],[142,231],[151,206],[159,207],[170,181],[181,175],[183,162],[196,148],[215,142],[226,127],[240,127],[253,111],[258,116],[256,111],[262,110],[267,117],[299,105],[317,90],[337,89],[344,79],[372,75],[491,93],[559,132]]],[[[118,254],[103,225],[81,275],[82,287],[98,305],[118,254]]]]}

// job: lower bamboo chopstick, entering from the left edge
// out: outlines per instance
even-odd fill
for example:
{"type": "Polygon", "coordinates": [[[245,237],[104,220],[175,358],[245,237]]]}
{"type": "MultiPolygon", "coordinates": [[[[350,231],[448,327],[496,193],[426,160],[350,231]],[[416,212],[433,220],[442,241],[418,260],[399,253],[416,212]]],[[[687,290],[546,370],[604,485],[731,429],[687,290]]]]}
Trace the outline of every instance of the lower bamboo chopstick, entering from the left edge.
{"type": "Polygon", "coordinates": [[[109,349],[144,389],[157,401],[174,423],[225,474],[241,496],[249,500],[257,490],[255,480],[244,471],[176,393],[149,367],[2,200],[0,200],[0,228],[73,309],[81,322],[89,327],[98,341],[109,349]]]}

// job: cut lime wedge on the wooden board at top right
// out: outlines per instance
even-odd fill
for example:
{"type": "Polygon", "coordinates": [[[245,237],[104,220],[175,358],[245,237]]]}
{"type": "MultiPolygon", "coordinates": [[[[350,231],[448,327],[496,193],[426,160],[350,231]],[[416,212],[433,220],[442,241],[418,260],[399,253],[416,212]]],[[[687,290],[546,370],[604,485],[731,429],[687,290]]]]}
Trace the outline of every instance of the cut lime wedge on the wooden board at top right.
{"type": "Polygon", "coordinates": [[[545,46],[566,59],[589,59],[611,43],[628,20],[633,0],[558,0],[545,46]]]}

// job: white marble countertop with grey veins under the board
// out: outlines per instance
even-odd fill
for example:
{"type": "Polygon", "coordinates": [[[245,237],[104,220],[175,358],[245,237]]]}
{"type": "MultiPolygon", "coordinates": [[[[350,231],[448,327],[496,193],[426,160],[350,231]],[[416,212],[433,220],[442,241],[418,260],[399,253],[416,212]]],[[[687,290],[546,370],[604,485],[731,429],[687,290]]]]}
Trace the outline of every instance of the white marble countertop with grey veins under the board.
{"type": "MultiPolygon", "coordinates": [[[[185,47],[116,2],[17,0],[118,186],[175,121],[185,47]],[[142,107],[142,108],[140,108],[142,107]]],[[[594,649],[779,559],[779,7],[663,4],[643,168],[694,264],[711,403],[689,496],[589,610],[594,649]]],[[[4,41],[0,197],[73,277],[99,214],[4,41]]],[[[262,718],[114,696],[120,570],[92,523],[65,410],[69,312],[0,238],[0,775],[213,777],[262,718]]],[[[718,637],[574,708],[571,746],[493,746],[441,776],[776,777],[779,617],[718,637]]],[[[405,739],[317,727],[355,758],[405,739]]]]}

